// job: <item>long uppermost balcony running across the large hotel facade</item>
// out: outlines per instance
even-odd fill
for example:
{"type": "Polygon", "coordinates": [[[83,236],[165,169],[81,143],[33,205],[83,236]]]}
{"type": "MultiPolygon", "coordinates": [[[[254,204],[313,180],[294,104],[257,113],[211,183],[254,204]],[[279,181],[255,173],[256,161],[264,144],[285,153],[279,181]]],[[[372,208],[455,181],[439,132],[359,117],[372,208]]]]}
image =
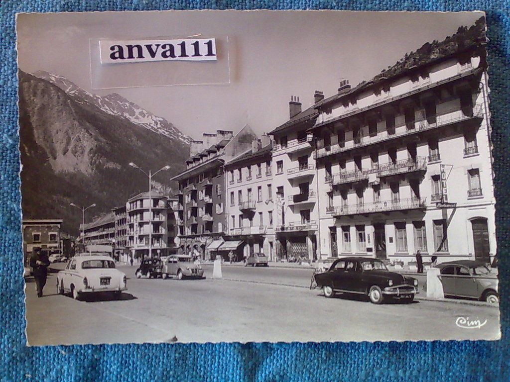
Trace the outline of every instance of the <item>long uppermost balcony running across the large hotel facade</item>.
{"type": "Polygon", "coordinates": [[[473,118],[483,118],[482,105],[477,103],[473,107],[473,112],[466,114],[463,111],[461,111],[460,108],[455,108],[454,110],[451,110],[446,114],[435,114],[432,116],[428,116],[429,120],[434,120],[433,122],[429,122],[427,119],[417,120],[414,129],[408,129],[406,124],[402,123],[396,126],[396,130],[394,131],[393,134],[390,134],[388,131],[387,134],[379,134],[376,135],[375,137],[356,137],[356,142],[354,141],[346,142],[345,147],[341,147],[339,144],[336,144],[329,147],[317,149],[315,151],[314,157],[315,159],[320,159],[330,155],[350,151],[358,147],[366,147],[374,144],[379,144],[397,138],[407,137],[409,135],[420,133],[422,131],[429,131],[439,127],[469,121],[472,120],[473,118]]]}

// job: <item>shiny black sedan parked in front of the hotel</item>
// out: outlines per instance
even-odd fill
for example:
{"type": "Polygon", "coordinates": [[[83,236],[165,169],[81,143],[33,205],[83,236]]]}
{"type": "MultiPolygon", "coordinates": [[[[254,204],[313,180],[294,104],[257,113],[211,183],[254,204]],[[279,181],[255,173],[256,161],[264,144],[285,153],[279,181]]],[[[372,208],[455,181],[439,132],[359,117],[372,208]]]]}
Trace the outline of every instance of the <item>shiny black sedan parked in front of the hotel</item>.
{"type": "Polygon", "coordinates": [[[418,293],[418,280],[390,272],[382,261],[365,257],[338,259],[327,271],[316,274],[315,282],[325,297],[337,292],[362,294],[374,304],[387,298],[410,303],[418,293]]]}

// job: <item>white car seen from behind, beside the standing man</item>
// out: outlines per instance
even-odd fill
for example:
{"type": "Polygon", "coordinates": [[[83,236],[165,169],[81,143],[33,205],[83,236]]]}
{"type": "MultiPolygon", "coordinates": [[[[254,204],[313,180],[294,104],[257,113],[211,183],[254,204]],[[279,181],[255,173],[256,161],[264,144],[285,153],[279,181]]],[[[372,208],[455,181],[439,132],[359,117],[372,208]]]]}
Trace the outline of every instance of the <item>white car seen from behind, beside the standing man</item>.
{"type": "Polygon", "coordinates": [[[69,292],[75,299],[84,293],[105,292],[120,297],[123,290],[127,290],[127,277],[108,256],[74,257],[57,274],[57,292],[69,292]]]}

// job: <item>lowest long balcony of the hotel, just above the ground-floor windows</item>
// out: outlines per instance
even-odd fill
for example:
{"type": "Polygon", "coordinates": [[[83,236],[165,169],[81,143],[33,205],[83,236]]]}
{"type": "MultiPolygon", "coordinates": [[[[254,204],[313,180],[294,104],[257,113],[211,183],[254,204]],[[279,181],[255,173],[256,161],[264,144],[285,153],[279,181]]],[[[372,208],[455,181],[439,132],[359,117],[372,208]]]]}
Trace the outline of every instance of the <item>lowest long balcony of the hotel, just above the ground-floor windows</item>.
{"type": "Polygon", "coordinates": [[[338,206],[328,211],[338,217],[346,215],[368,214],[376,212],[392,212],[412,209],[425,209],[425,199],[409,198],[392,201],[378,201],[373,203],[350,204],[338,206]]]}

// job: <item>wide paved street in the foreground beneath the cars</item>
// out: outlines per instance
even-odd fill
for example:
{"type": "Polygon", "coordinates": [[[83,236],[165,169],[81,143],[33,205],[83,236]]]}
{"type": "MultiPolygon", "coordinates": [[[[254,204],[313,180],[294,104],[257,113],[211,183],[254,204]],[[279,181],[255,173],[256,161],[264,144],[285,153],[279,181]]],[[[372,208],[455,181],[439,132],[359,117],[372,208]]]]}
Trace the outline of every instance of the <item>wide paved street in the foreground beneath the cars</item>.
{"type": "MultiPolygon", "coordinates": [[[[223,266],[223,279],[136,279],[113,296],[75,301],[56,294],[55,273],[37,298],[29,279],[30,345],[128,342],[405,341],[499,338],[499,309],[419,299],[374,305],[360,297],[324,298],[309,290],[308,268],[223,266]],[[238,281],[242,280],[242,281],[238,281]],[[464,329],[458,317],[487,323],[464,329]]],[[[423,292],[422,292],[423,293],[423,292]]]]}

